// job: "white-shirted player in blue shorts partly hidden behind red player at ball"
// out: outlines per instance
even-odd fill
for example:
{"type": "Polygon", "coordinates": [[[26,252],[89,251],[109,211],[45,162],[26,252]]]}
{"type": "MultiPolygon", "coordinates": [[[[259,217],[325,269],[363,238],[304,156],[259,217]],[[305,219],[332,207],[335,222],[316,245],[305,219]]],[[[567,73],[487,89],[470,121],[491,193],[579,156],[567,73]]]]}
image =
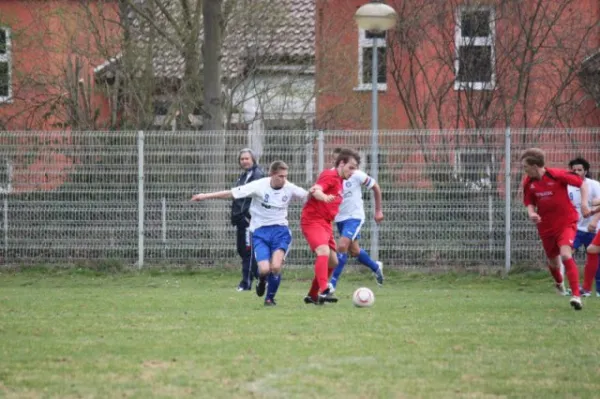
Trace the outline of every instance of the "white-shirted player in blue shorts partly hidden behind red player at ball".
{"type": "MultiPolygon", "coordinates": [[[[334,155],[337,149],[334,151],[334,155]]],[[[375,221],[377,223],[383,220],[381,211],[381,189],[379,184],[361,170],[355,171],[352,176],[343,182],[344,199],[340,205],[340,211],[335,217],[335,223],[340,234],[338,240],[338,266],[333,271],[329,280],[329,290],[333,293],[337,287],[337,282],[348,261],[348,253],[357,258],[363,265],[367,266],[377,279],[377,284],[383,284],[383,264],[374,261],[369,254],[358,245],[360,238],[360,228],[365,222],[365,209],[362,199],[362,187],[373,190],[375,194],[375,221]]]]}

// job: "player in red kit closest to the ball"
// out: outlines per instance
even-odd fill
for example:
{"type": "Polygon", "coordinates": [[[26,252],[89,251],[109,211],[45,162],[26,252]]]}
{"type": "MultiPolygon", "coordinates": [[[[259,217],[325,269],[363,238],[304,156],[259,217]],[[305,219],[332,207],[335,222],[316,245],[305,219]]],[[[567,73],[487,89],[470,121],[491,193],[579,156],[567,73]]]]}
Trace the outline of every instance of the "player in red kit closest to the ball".
{"type": "Polygon", "coordinates": [[[311,187],[311,197],[302,209],[300,228],[310,249],[317,255],[315,277],[305,303],[337,302],[330,295],[327,283],[337,266],[337,253],[332,223],[342,203],[342,182],[358,169],[360,155],[353,150],[340,151],[334,169],[324,170],[311,187]]]}

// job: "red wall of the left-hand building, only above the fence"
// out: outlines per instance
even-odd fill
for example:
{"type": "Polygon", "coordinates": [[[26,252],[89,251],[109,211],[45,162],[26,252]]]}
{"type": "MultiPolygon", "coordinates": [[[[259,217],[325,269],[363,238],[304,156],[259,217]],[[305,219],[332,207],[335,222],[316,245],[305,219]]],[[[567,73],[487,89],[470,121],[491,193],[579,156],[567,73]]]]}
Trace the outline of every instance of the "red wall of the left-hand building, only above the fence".
{"type": "Polygon", "coordinates": [[[91,98],[89,114],[108,115],[92,70],[119,51],[117,8],[116,1],[0,2],[0,24],[11,29],[13,89],[13,101],[0,103],[0,129],[62,129],[64,104],[75,98],[83,104],[83,93],[91,98]],[[76,63],[79,74],[67,78],[76,63]],[[75,85],[80,79],[83,85],[75,85]]]}

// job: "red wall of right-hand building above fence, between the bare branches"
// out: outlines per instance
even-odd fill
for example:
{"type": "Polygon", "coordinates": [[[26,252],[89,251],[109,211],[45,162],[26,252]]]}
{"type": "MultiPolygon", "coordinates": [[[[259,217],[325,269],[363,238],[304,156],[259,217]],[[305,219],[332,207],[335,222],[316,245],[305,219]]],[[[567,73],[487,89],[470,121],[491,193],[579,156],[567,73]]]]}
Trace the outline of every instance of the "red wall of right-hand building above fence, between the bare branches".
{"type": "MultiPolygon", "coordinates": [[[[550,3],[552,0],[548,0],[550,3]]],[[[353,20],[354,13],[365,0],[317,0],[316,15],[316,40],[317,40],[317,126],[322,129],[369,129],[371,124],[371,91],[357,91],[358,84],[358,29],[353,20]]],[[[393,6],[401,15],[411,16],[401,22],[411,25],[410,34],[421,35],[427,38],[424,45],[416,52],[420,54],[421,60],[427,60],[424,73],[414,75],[408,79],[407,54],[405,49],[394,47],[388,52],[388,88],[379,92],[379,126],[381,129],[405,129],[411,127],[427,128],[460,128],[476,127],[467,115],[465,105],[466,96],[473,96],[472,103],[481,106],[485,103],[484,92],[455,91],[452,87],[444,91],[444,85],[451,84],[454,80],[453,65],[446,61],[437,61],[436,56],[445,53],[454,54],[454,19],[452,13],[446,14],[445,20],[426,20],[424,16],[428,12],[435,12],[435,7],[447,7],[454,10],[461,2],[458,1],[425,1],[416,0],[412,2],[389,0],[387,3],[393,6]],[[412,9],[411,9],[412,7],[412,9]],[[418,11],[417,11],[418,10],[418,11]],[[415,15],[424,18],[423,21],[416,20],[415,15]],[[420,30],[421,29],[421,30],[420,30]],[[394,53],[394,54],[391,54],[394,53]],[[426,56],[427,55],[427,56],[426,56]],[[409,118],[401,101],[400,91],[396,87],[393,78],[394,65],[402,65],[406,81],[414,82],[415,98],[407,99],[408,103],[420,103],[418,117],[409,118]],[[426,86],[429,82],[431,86],[426,86]],[[431,95],[433,92],[441,91],[443,94],[431,95]],[[443,98],[443,101],[436,104],[443,98]],[[427,105],[425,107],[424,105],[427,105]]],[[[494,3],[490,1],[489,3],[494,3]]],[[[553,28],[553,31],[536,54],[536,62],[528,74],[529,79],[522,81],[519,86],[522,92],[520,100],[512,104],[512,96],[517,90],[517,79],[514,70],[506,68],[498,70],[497,90],[491,97],[489,106],[493,112],[489,112],[487,119],[479,122],[479,125],[503,127],[578,127],[578,126],[600,126],[600,108],[578,89],[576,77],[569,80],[564,88],[560,76],[567,73],[569,63],[580,62],[584,54],[591,53],[600,48],[600,33],[595,30],[585,33],[586,25],[591,21],[600,19],[600,4],[597,0],[554,0],[549,6],[557,8],[567,5],[562,13],[561,20],[553,28]],[[587,35],[587,40],[582,42],[580,37],[587,35]],[[577,59],[569,54],[569,49],[577,48],[577,59]],[[538,62],[541,61],[541,62],[538,62]],[[560,92],[560,96],[555,93],[560,92]],[[502,96],[499,95],[502,93],[502,96]],[[503,109],[513,109],[507,114],[503,109]]],[[[497,12],[501,12],[497,7],[497,12]]],[[[430,14],[429,14],[430,15],[430,14]]],[[[519,38],[519,28],[516,20],[503,18],[496,26],[497,35],[497,68],[510,65],[516,61],[512,54],[502,53],[499,44],[523,43],[519,38]]],[[[392,33],[390,37],[393,37],[392,33]]],[[[542,35],[542,31],[536,31],[542,35]]],[[[541,36],[538,36],[541,37],[541,36]]],[[[538,40],[536,38],[536,40],[538,40]]],[[[390,48],[388,41],[388,48],[390,48]]],[[[515,54],[520,54],[519,51],[515,54]]],[[[575,63],[577,65],[577,63],[575,63]]],[[[399,71],[400,69],[396,69],[399,71]]],[[[400,73],[400,72],[396,72],[400,73]]]]}

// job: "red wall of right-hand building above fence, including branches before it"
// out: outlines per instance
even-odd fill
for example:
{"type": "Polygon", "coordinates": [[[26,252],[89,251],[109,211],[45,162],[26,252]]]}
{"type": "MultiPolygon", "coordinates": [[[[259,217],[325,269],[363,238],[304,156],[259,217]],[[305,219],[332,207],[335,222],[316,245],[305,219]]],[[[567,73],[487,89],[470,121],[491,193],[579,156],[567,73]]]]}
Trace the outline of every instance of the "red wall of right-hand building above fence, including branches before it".
{"type": "MultiPolygon", "coordinates": [[[[317,1],[319,128],[370,126],[371,91],[357,89],[359,32],[353,20],[364,3],[317,1]]],[[[468,91],[456,90],[453,84],[455,15],[463,3],[387,2],[400,22],[388,32],[387,89],[378,96],[380,128],[600,125],[600,111],[580,90],[576,77],[579,62],[600,47],[598,3],[529,0],[512,8],[501,3],[505,2],[487,2],[496,12],[496,85],[493,90],[468,91]],[[549,22],[556,15],[559,18],[549,22]],[[520,28],[531,17],[534,28],[520,28]]]]}

